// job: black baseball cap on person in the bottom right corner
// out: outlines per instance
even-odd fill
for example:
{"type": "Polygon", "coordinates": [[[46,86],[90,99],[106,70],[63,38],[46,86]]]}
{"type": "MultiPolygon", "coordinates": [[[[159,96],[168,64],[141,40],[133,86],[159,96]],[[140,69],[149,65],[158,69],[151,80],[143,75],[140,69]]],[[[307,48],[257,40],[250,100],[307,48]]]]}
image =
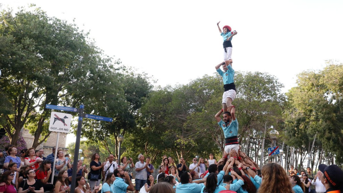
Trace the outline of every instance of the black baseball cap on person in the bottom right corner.
{"type": "Polygon", "coordinates": [[[339,187],[343,184],[343,171],[337,165],[320,164],[318,168],[333,187],[339,187]]]}

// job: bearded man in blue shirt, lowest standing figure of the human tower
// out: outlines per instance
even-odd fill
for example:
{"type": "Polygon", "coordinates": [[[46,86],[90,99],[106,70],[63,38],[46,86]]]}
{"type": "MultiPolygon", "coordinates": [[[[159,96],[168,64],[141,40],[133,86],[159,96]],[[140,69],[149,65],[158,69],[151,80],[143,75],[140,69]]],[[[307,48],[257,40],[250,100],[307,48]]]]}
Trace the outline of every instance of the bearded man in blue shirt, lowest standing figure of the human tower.
{"type": "MultiPolygon", "coordinates": [[[[220,115],[223,112],[221,109],[214,117],[224,131],[225,136],[225,149],[223,152],[223,157],[226,158],[226,155],[230,152],[231,149],[238,152],[239,145],[238,145],[238,121],[235,116],[235,106],[232,106],[231,112],[224,112],[223,120],[220,118],[220,115]]],[[[237,159],[237,158],[235,158],[237,159]]]]}

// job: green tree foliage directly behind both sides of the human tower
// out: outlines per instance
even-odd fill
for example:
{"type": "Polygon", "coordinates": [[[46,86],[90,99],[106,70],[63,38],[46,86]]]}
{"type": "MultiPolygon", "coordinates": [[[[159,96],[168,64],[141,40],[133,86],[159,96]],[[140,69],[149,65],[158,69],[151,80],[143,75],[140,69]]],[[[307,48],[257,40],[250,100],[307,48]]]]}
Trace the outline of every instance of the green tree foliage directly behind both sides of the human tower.
{"type": "MultiPolygon", "coordinates": [[[[269,125],[281,124],[285,98],[282,84],[267,73],[238,73],[235,82],[239,98],[234,104],[243,144],[248,136],[263,133],[267,120],[269,125]]],[[[222,94],[223,83],[218,75],[153,91],[141,108],[139,129],[126,135],[124,155],[136,157],[142,153],[158,164],[164,154],[186,159],[195,155],[208,157],[210,153],[221,157],[225,141],[214,115],[222,108],[222,94]]]]}

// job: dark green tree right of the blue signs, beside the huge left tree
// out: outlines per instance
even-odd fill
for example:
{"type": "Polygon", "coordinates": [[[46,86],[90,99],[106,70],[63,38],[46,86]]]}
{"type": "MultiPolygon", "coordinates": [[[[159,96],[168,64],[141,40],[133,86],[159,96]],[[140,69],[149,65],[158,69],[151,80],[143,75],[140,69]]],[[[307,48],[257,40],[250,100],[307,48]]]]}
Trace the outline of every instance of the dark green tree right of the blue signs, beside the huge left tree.
{"type": "Polygon", "coordinates": [[[84,120],[82,136],[93,142],[99,141],[110,154],[118,155],[118,135],[134,132],[137,129],[136,119],[138,109],[151,92],[152,85],[146,74],[134,74],[129,71],[123,72],[119,81],[106,86],[106,91],[100,99],[95,100],[94,109],[99,115],[113,117],[112,123],[104,123],[94,120],[84,120]],[[111,86],[113,84],[113,86],[111,86]],[[113,89],[118,87],[118,89],[113,89]],[[106,108],[103,108],[106,107],[106,108]],[[112,144],[110,141],[114,141],[112,144]],[[114,145],[115,149],[110,148],[114,145]]]}

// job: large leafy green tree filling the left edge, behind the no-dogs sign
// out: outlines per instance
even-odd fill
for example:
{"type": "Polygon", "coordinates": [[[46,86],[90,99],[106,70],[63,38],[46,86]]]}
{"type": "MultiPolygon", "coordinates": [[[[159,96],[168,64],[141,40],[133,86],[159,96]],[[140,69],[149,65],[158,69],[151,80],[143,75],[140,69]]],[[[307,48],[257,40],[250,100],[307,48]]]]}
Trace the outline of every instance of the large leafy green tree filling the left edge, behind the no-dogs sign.
{"type": "MultiPolygon", "coordinates": [[[[1,126],[11,144],[26,127],[36,148],[50,134],[45,104],[92,104],[88,99],[101,95],[100,88],[106,87],[103,75],[116,69],[88,34],[40,9],[22,9],[15,15],[4,10],[0,20],[0,84],[12,104],[1,126]]],[[[0,112],[6,109],[1,106],[0,112]]]]}

